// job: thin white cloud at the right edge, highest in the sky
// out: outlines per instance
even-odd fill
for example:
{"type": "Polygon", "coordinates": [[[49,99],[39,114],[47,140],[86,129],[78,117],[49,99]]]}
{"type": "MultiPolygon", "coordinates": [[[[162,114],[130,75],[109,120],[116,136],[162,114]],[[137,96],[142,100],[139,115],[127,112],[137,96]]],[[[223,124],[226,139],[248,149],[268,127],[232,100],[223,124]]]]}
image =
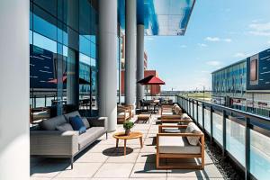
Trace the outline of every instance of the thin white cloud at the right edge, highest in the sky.
{"type": "Polygon", "coordinates": [[[251,23],[248,25],[250,34],[255,36],[270,36],[270,22],[269,23],[251,23]]]}

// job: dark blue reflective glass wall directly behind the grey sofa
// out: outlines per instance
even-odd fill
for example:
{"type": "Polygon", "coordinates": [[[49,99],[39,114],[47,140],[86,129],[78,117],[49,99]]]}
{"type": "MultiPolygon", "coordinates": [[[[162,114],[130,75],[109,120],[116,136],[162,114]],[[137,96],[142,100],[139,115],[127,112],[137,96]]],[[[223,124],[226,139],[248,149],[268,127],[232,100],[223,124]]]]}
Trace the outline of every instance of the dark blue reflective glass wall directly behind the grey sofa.
{"type": "Polygon", "coordinates": [[[74,109],[97,110],[97,25],[95,0],[31,0],[30,105],[55,116],[74,109]]]}

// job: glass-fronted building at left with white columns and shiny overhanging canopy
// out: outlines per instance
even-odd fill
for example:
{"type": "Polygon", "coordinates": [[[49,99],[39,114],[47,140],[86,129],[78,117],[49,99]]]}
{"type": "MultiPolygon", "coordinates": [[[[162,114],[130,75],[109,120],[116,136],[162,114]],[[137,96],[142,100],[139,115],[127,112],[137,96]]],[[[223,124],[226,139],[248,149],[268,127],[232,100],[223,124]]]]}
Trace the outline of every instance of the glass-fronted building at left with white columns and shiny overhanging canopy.
{"type": "Polygon", "coordinates": [[[184,35],[194,4],[195,0],[0,1],[0,116],[1,123],[8,120],[14,127],[0,126],[0,179],[29,179],[32,109],[53,106],[60,115],[70,106],[85,108],[86,114],[107,117],[107,130],[115,130],[121,32],[125,103],[135,105],[136,97],[143,95],[143,86],[136,82],[145,68],[144,36],[184,35]]]}

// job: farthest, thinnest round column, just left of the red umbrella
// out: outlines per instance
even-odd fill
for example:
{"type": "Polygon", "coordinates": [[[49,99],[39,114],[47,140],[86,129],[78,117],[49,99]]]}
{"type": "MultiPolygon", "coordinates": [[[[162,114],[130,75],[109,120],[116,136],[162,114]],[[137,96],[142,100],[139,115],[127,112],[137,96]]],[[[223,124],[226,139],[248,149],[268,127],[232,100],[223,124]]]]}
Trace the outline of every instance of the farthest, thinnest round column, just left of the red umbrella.
{"type": "MultiPolygon", "coordinates": [[[[144,77],[144,25],[137,25],[137,81],[144,77]]],[[[137,106],[144,98],[144,85],[137,84],[137,106]]]]}

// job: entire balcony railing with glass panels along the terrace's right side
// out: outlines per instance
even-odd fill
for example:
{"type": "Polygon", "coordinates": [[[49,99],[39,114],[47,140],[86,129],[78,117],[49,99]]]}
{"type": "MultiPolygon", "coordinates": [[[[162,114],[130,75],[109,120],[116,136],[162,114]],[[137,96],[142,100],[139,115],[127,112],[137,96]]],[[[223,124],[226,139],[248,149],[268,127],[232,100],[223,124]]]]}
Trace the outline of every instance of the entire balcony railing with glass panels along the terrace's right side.
{"type": "Polygon", "coordinates": [[[177,96],[193,121],[245,172],[245,179],[270,175],[270,119],[225,106],[177,96]]]}

